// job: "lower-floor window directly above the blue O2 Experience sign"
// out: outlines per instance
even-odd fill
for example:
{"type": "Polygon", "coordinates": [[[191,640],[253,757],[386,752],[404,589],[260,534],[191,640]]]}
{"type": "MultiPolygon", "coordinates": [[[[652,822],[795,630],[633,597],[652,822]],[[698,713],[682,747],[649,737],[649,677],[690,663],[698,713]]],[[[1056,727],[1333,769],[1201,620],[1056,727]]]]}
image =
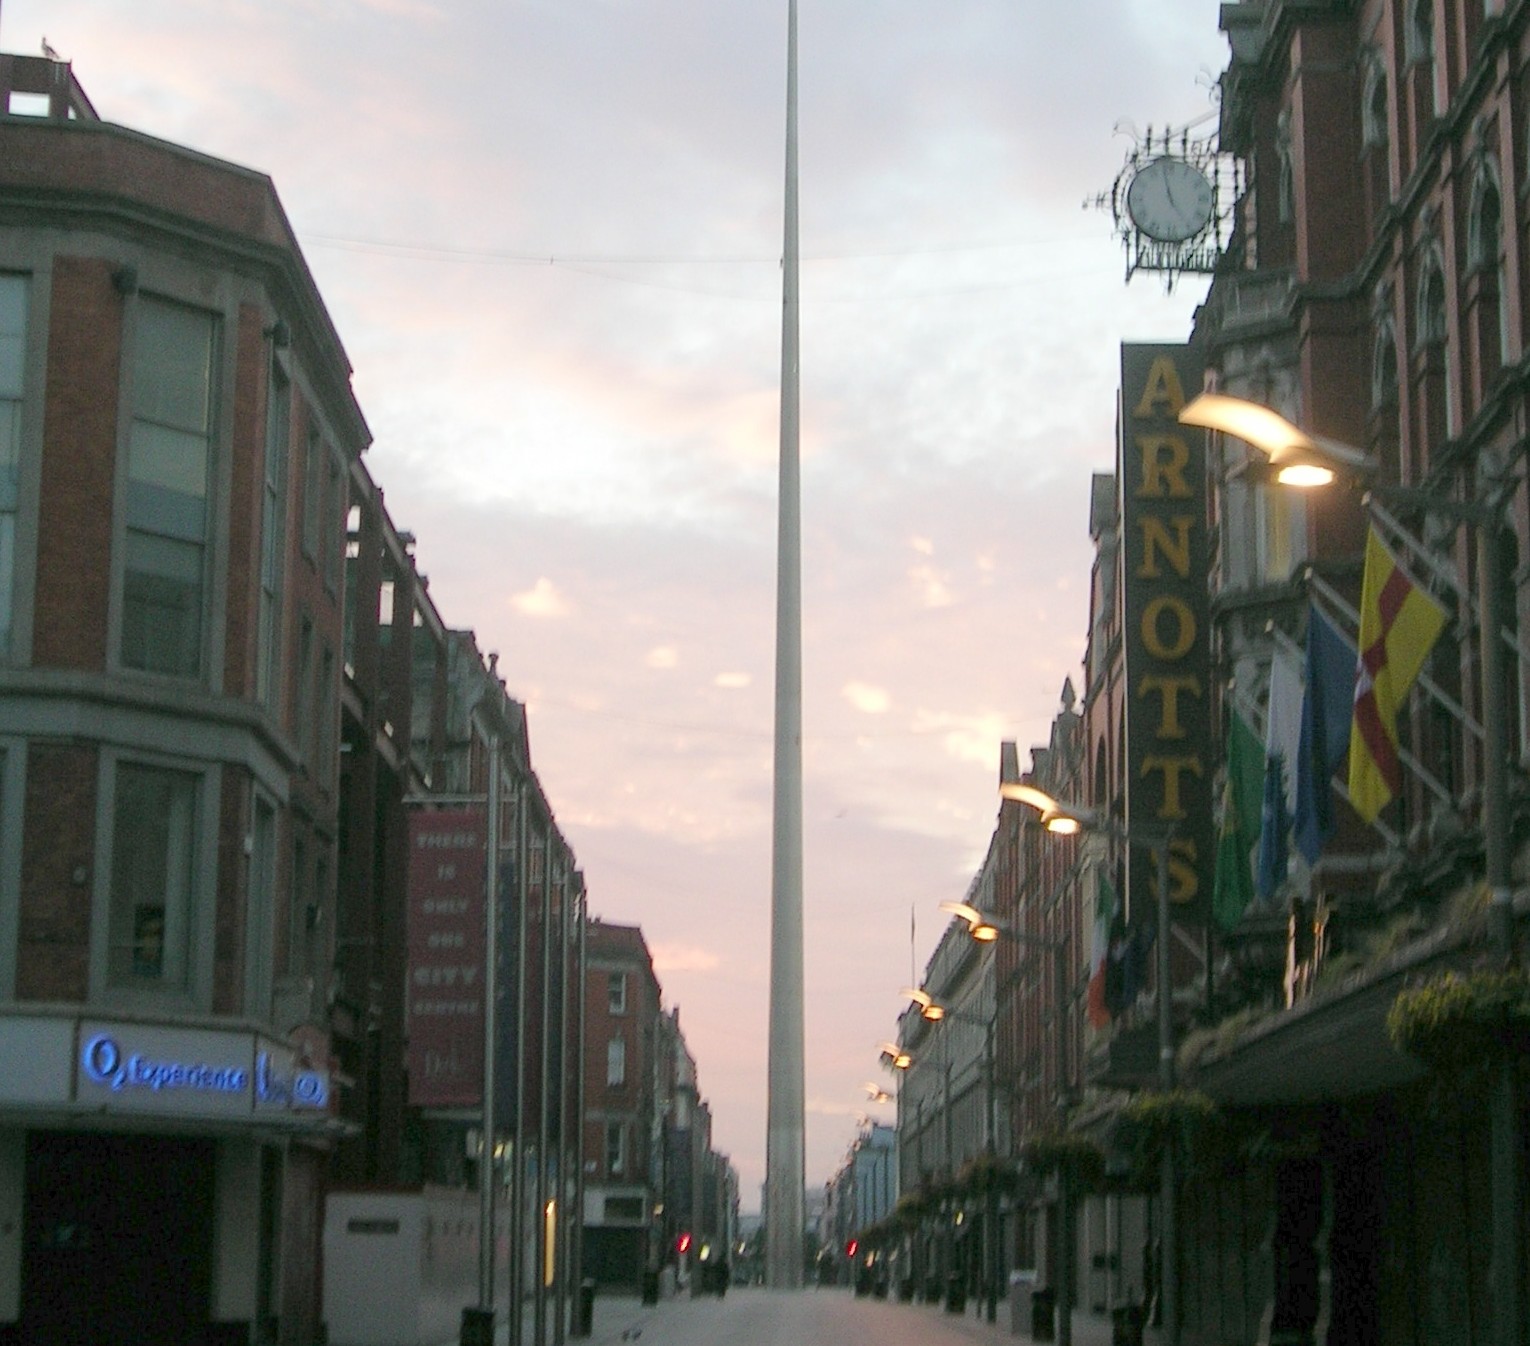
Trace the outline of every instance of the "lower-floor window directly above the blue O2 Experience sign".
{"type": "Polygon", "coordinates": [[[112,812],[107,983],[190,990],[196,775],[124,762],[112,812]]]}

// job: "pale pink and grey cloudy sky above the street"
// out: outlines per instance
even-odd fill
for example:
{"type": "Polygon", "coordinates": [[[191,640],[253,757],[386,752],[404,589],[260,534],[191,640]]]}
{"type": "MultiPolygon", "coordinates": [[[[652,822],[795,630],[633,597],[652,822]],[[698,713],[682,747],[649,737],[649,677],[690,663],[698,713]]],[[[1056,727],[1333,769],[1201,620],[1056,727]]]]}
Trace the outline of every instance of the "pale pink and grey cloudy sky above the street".
{"type": "MultiPolygon", "coordinates": [[[[808,1181],[1083,650],[1134,130],[1216,0],[800,0],[808,1181]],[[915,935],[910,941],[910,916],[915,935]]],[[[592,907],[765,1166],[785,0],[3,0],[109,121],[269,173],[370,471],[500,652],[592,907]]],[[[1210,128],[1204,122],[1201,130],[1210,128]]]]}

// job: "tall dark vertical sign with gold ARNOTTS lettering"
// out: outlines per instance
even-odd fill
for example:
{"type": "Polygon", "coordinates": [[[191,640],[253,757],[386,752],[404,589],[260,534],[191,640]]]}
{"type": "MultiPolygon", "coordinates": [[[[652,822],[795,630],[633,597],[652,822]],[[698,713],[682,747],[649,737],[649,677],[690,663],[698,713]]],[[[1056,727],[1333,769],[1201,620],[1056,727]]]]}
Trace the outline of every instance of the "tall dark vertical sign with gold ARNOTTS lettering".
{"type": "MultiPolygon", "coordinates": [[[[1210,893],[1212,756],[1206,434],[1178,421],[1201,389],[1186,346],[1121,346],[1126,826],[1174,827],[1169,898],[1200,919],[1210,893]]],[[[1152,902],[1155,857],[1134,846],[1129,895],[1152,902]]]]}

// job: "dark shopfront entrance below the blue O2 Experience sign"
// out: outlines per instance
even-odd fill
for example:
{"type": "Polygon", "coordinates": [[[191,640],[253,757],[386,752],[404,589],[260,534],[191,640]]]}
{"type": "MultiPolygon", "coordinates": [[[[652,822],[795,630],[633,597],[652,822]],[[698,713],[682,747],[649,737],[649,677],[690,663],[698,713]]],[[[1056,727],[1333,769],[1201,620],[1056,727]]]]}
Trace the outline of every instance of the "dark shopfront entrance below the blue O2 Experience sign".
{"type": "Polygon", "coordinates": [[[29,1133],[21,1340],[199,1346],[210,1317],[213,1179],[207,1140],[29,1133]]]}

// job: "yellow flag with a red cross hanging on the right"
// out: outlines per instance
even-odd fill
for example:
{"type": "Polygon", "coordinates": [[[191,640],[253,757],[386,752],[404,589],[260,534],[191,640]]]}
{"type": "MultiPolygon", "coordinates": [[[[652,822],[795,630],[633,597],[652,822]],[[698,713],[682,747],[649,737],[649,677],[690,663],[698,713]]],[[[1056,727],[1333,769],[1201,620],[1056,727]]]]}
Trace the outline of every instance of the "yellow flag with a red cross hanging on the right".
{"type": "Polygon", "coordinates": [[[1444,623],[1444,609],[1414,583],[1372,526],[1365,538],[1349,736],[1349,801],[1368,823],[1403,788],[1397,711],[1444,623]]]}

